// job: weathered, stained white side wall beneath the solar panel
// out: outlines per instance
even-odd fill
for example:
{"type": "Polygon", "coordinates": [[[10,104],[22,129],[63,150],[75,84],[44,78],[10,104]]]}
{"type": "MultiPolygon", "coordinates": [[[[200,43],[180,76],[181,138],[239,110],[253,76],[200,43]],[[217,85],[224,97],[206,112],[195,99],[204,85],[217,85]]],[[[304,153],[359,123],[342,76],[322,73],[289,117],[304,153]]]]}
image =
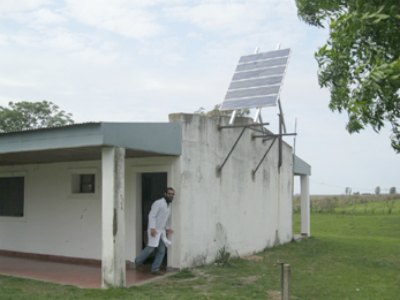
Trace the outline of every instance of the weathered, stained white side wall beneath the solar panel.
{"type": "Polygon", "coordinates": [[[223,247],[233,255],[245,255],[292,239],[293,159],[287,144],[280,170],[275,142],[253,177],[270,142],[252,140],[247,129],[218,176],[216,167],[242,129],[218,131],[227,119],[199,115],[174,114],[170,121],[183,124],[180,200],[174,203],[180,247],[175,266],[211,262],[223,247]]]}

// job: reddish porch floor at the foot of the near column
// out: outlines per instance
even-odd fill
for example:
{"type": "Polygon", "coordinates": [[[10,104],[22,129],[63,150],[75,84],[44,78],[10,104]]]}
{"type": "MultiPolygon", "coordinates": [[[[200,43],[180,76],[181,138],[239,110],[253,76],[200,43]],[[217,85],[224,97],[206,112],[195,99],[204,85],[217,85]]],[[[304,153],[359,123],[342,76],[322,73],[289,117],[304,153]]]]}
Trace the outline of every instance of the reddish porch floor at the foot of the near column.
{"type": "MultiPolygon", "coordinates": [[[[0,274],[81,288],[101,288],[100,266],[0,255],[0,274]]],[[[165,276],[154,276],[149,271],[139,272],[127,268],[126,285],[127,287],[140,285],[165,276]]]]}

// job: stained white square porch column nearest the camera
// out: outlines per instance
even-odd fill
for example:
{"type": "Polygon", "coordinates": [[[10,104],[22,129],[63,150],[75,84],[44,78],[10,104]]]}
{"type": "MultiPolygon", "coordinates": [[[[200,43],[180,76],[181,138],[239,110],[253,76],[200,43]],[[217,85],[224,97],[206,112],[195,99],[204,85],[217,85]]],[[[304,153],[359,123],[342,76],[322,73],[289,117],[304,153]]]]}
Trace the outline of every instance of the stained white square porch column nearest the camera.
{"type": "Polygon", "coordinates": [[[102,287],[125,287],[125,149],[104,147],[102,163],[102,287]]]}

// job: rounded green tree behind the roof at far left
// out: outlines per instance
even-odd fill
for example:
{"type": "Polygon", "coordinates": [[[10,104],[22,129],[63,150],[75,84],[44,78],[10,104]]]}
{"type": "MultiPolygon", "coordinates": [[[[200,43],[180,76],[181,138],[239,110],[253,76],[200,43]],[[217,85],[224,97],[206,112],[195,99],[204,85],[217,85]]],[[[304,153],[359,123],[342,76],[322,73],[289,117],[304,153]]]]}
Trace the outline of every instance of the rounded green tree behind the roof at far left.
{"type": "Polygon", "coordinates": [[[0,132],[73,124],[72,115],[49,101],[9,102],[0,106],[0,132]]]}

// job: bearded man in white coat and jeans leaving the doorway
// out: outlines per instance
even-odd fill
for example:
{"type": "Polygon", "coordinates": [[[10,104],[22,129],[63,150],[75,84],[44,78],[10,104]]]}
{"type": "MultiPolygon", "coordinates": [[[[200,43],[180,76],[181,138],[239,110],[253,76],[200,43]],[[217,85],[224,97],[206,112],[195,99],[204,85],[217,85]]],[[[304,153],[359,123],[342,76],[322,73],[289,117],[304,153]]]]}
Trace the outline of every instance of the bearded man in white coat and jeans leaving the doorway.
{"type": "MultiPolygon", "coordinates": [[[[140,268],[151,253],[156,251],[154,262],[151,266],[151,273],[162,275],[160,266],[165,256],[165,237],[173,233],[171,226],[171,203],[174,200],[175,190],[168,187],[164,192],[164,197],[154,201],[149,213],[147,228],[147,246],[135,258],[136,268],[140,268]]],[[[168,241],[169,242],[169,241],[168,241]]]]}

